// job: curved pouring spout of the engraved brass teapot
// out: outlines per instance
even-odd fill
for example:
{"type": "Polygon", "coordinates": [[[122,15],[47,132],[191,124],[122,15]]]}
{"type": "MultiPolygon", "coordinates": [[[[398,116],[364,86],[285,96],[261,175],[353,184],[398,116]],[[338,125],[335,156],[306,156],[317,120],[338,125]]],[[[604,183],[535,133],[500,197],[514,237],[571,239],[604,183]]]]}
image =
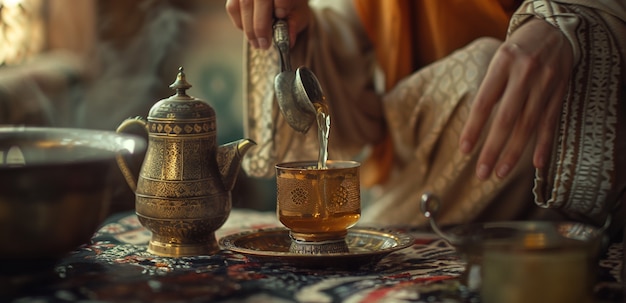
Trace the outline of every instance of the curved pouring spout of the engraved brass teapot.
{"type": "Polygon", "coordinates": [[[217,149],[217,166],[220,170],[222,184],[227,191],[235,187],[243,156],[256,143],[250,139],[241,139],[220,145],[217,149]]]}

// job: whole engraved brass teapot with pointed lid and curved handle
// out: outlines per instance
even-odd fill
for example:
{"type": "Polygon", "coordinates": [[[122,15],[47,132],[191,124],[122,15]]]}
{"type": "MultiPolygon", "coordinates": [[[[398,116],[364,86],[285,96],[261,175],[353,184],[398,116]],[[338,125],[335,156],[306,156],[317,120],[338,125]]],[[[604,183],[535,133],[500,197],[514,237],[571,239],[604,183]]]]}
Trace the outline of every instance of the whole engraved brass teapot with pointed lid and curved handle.
{"type": "Polygon", "coordinates": [[[117,162],[135,192],[135,210],[152,232],[148,251],[161,256],[212,254],[219,250],[215,231],[231,211],[231,193],[243,154],[255,143],[241,139],[217,147],[213,108],[188,96],[183,68],[170,85],[176,94],[160,100],[148,118],[129,118],[117,131],[139,125],[148,148],[139,177],[125,158],[117,162]]]}

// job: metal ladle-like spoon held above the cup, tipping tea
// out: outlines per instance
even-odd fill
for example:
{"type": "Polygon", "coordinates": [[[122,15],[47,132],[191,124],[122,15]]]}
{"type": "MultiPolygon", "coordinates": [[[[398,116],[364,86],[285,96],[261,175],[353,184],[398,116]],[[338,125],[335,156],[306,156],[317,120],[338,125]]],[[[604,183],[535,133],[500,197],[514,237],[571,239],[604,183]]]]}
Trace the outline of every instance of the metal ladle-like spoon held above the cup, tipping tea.
{"type": "Polygon", "coordinates": [[[302,66],[293,71],[289,57],[289,32],[287,21],[274,23],[274,43],[280,54],[281,72],[274,78],[276,101],[287,123],[295,130],[306,133],[315,122],[314,102],[323,102],[324,93],[313,72],[302,66]]]}

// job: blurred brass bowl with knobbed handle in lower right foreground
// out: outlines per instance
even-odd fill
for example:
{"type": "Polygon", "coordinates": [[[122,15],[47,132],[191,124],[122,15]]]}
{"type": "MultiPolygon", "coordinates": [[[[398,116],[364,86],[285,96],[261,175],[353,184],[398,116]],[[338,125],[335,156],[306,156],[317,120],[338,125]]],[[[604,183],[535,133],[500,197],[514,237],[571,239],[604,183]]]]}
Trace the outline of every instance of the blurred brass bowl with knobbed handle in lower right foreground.
{"type": "Polygon", "coordinates": [[[500,221],[440,229],[439,198],[422,195],[431,228],[466,262],[463,287],[483,302],[590,302],[604,230],[580,222],[500,221]]]}

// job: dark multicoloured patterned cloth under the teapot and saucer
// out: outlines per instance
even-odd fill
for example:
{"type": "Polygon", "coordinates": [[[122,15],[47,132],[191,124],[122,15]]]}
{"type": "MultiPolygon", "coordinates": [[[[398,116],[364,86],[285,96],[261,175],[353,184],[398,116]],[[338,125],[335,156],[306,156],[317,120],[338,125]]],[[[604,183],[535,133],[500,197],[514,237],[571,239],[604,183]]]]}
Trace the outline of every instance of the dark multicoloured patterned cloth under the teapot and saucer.
{"type": "MultiPolygon", "coordinates": [[[[225,235],[279,226],[273,213],[234,210],[217,232],[225,235]]],[[[464,262],[428,231],[412,246],[359,269],[305,269],[222,250],[213,256],[157,257],[146,252],[150,232],[133,213],[113,216],[54,271],[21,277],[9,302],[480,302],[460,283],[464,262]]],[[[594,295],[622,302],[622,244],[599,263],[594,295]]],[[[5,292],[7,293],[7,292],[5,292]]]]}

